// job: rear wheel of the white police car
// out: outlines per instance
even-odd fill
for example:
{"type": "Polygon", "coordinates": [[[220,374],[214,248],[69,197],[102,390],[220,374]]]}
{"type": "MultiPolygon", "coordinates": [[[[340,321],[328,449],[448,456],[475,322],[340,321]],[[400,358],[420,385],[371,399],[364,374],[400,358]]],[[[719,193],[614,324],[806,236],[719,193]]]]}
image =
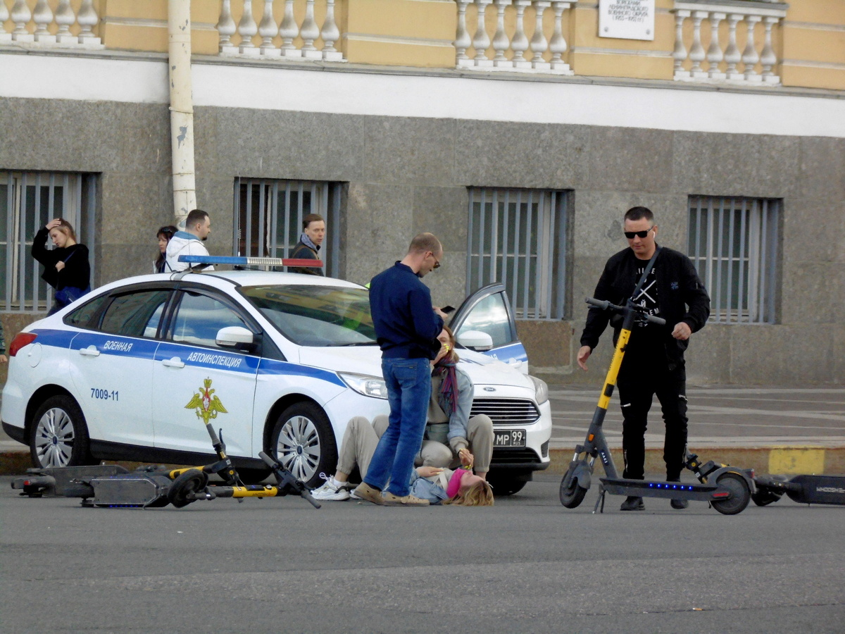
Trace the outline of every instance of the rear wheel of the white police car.
{"type": "Polygon", "coordinates": [[[76,401],[51,396],[35,410],[30,432],[34,467],[78,467],[94,464],[89,453],[88,427],[76,401]]]}

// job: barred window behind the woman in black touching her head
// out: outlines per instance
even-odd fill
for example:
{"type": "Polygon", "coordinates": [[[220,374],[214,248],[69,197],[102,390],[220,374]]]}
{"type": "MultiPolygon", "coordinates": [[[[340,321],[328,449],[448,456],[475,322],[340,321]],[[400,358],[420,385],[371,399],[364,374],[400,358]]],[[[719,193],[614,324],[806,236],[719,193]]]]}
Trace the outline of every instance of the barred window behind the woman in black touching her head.
{"type": "Polygon", "coordinates": [[[41,280],[43,267],[30,249],[35,232],[53,218],[70,222],[77,241],[88,247],[94,286],[95,194],[93,174],[0,171],[0,310],[52,308],[52,288],[41,280]]]}

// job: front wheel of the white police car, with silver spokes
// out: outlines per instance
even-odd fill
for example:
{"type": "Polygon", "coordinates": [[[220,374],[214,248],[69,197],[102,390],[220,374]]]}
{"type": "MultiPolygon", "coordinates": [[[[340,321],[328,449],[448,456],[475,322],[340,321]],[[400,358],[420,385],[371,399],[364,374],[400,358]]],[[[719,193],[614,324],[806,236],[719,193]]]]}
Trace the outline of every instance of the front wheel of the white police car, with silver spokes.
{"type": "Polygon", "coordinates": [[[270,436],[275,458],[309,487],[320,483],[320,473],[334,473],[337,465],[335,430],[329,417],[313,402],[288,407],[270,436]]]}

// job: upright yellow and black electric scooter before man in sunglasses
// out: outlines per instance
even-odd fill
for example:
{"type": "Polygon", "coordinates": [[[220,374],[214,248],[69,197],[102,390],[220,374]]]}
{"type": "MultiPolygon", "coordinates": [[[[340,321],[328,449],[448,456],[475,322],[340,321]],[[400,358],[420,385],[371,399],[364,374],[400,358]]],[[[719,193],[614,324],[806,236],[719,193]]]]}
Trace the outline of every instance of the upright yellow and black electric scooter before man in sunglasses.
{"type": "MultiPolygon", "coordinates": [[[[653,261],[652,258],[649,265],[646,266],[646,272],[637,284],[633,297],[636,297],[646,280],[653,261]]],[[[610,495],[635,495],[637,497],[667,498],[669,500],[702,500],[710,502],[711,506],[723,515],[735,515],[744,511],[745,507],[748,506],[753,490],[753,469],[739,469],[715,462],[706,462],[702,465],[698,462],[698,456],[691,454],[689,451],[686,454],[684,467],[695,473],[701,484],[619,478],[616,465],[613,463],[613,456],[608,447],[608,441],[602,429],[604,416],[608,412],[610,396],[613,394],[613,388],[616,385],[619,368],[622,365],[625,347],[628,345],[632,328],[638,324],[645,324],[645,322],[665,325],[666,320],[646,314],[645,309],[635,304],[633,299],[628,299],[624,306],[616,306],[594,298],[587,298],[586,303],[595,306],[597,309],[611,310],[614,313],[621,314],[623,322],[613,359],[604,380],[602,394],[598,399],[596,412],[593,414],[589,429],[587,429],[586,440],[583,445],[575,447],[575,456],[573,456],[570,467],[560,482],[560,503],[570,509],[574,509],[581,504],[587,489],[590,488],[596,459],[600,458],[606,477],[600,478],[599,495],[593,513],[599,510],[604,511],[604,496],[608,493],[610,495]]]]}

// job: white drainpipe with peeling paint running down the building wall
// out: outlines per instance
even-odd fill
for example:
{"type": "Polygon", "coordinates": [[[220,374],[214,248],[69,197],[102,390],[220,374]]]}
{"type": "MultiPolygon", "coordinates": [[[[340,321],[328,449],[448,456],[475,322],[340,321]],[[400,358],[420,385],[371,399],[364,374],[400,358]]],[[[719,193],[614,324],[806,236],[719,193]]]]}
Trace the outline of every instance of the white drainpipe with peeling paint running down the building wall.
{"type": "Polygon", "coordinates": [[[173,216],[179,228],[196,209],[194,181],[194,95],[191,84],[191,0],[168,0],[170,142],[173,165],[173,216]]]}

